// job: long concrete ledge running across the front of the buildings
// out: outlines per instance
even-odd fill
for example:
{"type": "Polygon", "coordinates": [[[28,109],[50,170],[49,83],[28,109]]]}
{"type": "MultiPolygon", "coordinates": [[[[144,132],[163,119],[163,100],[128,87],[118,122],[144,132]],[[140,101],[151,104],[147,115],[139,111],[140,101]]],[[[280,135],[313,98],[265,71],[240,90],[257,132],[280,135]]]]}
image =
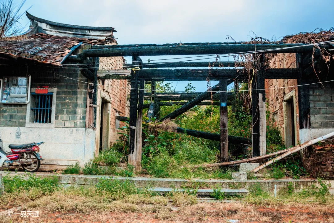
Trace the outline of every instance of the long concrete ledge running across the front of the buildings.
{"type": "MultiPolygon", "coordinates": [[[[29,173],[26,172],[5,172],[0,171],[2,176],[24,176],[26,177],[29,173]]],[[[59,183],[64,186],[90,186],[98,183],[100,178],[118,179],[118,180],[129,180],[136,184],[137,187],[163,187],[163,188],[199,188],[199,189],[210,189],[214,186],[225,189],[248,189],[256,184],[259,184],[263,190],[273,192],[275,185],[277,190],[286,189],[289,183],[292,183],[296,191],[301,191],[307,187],[315,185],[320,187],[317,179],[302,178],[302,179],[280,179],[280,180],[184,180],[184,179],[169,179],[169,178],[148,178],[148,177],[118,177],[118,176],[93,176],[93,175],[57,175],[53,173],[37,172],[36,176],[39,177],[50,177],[58,176],[59,183]]],[[[334,193],[334,180],[323,181],[326,184],[331,184],[329,187],[330,193],[334,193]]]]}

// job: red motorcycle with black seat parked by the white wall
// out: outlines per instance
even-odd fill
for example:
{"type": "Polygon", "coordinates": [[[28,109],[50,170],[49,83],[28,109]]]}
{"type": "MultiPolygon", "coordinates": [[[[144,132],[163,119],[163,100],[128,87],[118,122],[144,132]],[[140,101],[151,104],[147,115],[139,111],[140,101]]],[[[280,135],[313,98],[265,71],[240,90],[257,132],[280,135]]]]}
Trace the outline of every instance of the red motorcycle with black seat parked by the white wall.
{"type": "Polygon", "coordinates": [[[9,144],[11,152],[8,152],[3,147],[3,141],[0,138],[0,166],[12,166],[17,169],[22,167],[27,172],[36,172],[40,167],[40,161],[43,160],[39,154],[39,145],[43,143],[9,144]]]}

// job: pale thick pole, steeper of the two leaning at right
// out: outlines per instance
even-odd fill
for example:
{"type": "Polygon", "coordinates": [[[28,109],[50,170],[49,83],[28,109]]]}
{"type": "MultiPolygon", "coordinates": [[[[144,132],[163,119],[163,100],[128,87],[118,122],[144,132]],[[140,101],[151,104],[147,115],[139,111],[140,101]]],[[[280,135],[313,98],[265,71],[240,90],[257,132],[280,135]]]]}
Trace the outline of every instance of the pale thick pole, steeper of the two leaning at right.
{"type": "Polygon", "coordinates": [[[302,150],[302,149],[304,149],[304,148],[306,148],[310,145],[313,145],[313,144],[315,144],[315,143],[317,143],[321,140],[325,140],[325,139],[328,139],[328,138],[333,137],[333,136],[334,136],[334,132],[331,132],[331,133],[328,133],[327,135],[324,135],[324,136],[318,137],[316,139],[312,139],[308,142],[305,142],[305,143],[303,143],[299,146],[292,147],[292,148],[290,148],[289,151],[283,153],[282,155],[280,155],[280,156],[278,156],[274,159],[269,160],[268,162],[262,164],[261,166],[255,168],[254,170],[252,170],[252,172],[256,173],[256,172],[262,170],[263,168],[269,166],[270,164],[272,164],[274,162],[277,162],[277,161],[283,159],[284,157],[287,157],[287,156],[291,155],[292,153],[298,152],[298,151],[300,151],[300,150],[302,150]]]}

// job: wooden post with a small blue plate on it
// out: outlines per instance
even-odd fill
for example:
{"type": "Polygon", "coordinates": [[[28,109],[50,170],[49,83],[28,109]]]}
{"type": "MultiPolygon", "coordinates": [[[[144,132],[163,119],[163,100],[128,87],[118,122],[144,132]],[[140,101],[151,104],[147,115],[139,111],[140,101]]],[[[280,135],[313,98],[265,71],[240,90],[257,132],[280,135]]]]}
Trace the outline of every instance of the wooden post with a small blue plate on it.
{"type": "Polygon", "coordinates": [[[219,81],[220,98],[220,162],[228,161],[227,139],[227,80],[219,81]]]}

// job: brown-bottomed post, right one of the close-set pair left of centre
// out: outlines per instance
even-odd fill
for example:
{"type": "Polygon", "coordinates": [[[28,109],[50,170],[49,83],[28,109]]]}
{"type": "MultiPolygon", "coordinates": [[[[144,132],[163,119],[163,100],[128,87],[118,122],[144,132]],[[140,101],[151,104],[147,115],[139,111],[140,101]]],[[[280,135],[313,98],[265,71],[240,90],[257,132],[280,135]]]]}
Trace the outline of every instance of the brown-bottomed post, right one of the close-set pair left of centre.
{"type": "Polygon", "coordinates": [[[138,118],[136,132],[136,171],[142,170],[142,125],[143,125],[143,105],[144,105],[144,84],[145,81],[139,82],[139,100],[138,100],[138,118]]]}

